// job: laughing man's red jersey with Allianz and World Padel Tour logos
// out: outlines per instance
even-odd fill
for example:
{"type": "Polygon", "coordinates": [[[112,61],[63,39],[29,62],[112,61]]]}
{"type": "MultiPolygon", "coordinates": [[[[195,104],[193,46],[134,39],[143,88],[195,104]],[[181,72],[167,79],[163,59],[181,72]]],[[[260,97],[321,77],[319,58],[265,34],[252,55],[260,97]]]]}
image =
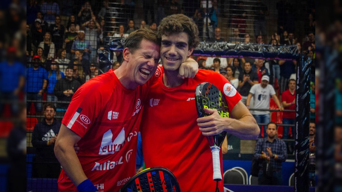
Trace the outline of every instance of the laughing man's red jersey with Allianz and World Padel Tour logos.
{"type": "MultiPolygon", "coordinates": [[[[81,136],[78,158],[98,191],[118,191],[135,174],[137,135],[147,87],[126,89],[113,70],[82,85],[62,123],[81,136]]],[[[60,191],[77,191],[62,171],[60,191]]]]}

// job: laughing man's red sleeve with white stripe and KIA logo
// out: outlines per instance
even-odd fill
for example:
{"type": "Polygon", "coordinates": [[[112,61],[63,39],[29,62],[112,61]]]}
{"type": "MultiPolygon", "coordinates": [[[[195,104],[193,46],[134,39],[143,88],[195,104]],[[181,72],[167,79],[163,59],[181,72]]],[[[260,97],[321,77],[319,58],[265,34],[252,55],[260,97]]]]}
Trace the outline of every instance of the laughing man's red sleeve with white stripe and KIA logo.
{"type": "MultiPolygon", "coordinates": [[[[83,137],[94,124],[104,98],[94,83],[83,84],[74,94],[62,123],[83,137]]],[[[103,89],[101,89],[103,90],[103,89]]]]}

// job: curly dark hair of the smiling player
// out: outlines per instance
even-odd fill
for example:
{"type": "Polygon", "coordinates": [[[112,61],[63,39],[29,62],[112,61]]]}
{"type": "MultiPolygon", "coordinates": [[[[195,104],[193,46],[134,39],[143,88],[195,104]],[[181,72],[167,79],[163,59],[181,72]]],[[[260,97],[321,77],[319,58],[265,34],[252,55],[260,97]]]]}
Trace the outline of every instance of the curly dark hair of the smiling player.
{"type": "Polygon", "coordinates": [[[194,21],[183,15],[174,14],[163,18],[158,26],[158,37],[173,33],[186,32],[189,36],[189,49],[196,48],[199,44],[199,32],[194,21]]]}

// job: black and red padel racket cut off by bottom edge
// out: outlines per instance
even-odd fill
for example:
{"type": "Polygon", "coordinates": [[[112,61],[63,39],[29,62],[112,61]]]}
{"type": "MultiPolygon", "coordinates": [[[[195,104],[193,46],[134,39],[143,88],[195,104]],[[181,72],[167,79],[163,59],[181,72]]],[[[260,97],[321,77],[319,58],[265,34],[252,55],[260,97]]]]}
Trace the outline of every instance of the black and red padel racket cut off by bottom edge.
{"type": "Polygon", "coordinates": [[[164,167],[152,167],[135,174],[119,192],[180,192],[173,173],[164,167]]]}

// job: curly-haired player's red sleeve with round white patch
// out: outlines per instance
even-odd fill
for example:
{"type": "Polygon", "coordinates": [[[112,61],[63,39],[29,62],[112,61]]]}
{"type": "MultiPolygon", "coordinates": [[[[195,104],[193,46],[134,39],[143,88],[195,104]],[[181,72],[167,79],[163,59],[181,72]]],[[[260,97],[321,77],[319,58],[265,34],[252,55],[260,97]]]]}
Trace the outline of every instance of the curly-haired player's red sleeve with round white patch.
{"type": "Polygon", "coordinates": [[[222,92],[226,98],[229,112],[235,107],[235,105],[241,100],[241,95],[237,92],[236,88],[221,74],[213,72],[213,78],[208,78],[212,81],[216,87],[222,92]]]}

